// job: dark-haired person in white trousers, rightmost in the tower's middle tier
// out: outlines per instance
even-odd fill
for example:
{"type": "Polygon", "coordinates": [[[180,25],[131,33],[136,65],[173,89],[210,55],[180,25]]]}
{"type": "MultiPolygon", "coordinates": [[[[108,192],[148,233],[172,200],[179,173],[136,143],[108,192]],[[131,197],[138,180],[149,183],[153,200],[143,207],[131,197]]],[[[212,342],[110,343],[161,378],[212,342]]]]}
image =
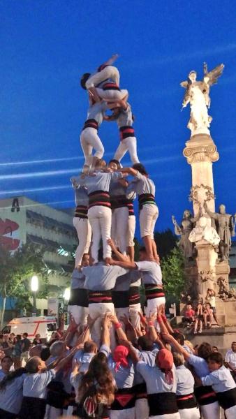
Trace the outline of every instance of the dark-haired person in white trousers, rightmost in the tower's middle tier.
{"type": "MultiPolygon", "coordinates": [[[[132,168],[121,168],[120,172],[126,172],[134,177],[129,184],[127,193],[137,193],[140,210],[140,234],[145,244],[149,260],[158,259],[156,243],[154,241],[154,228],[158,218],[158,207],[155,202],[155,185],[141,163],[135,163],[132,168]]],[[[158,260],[159,261],[159,260],[158,260]]]]}

